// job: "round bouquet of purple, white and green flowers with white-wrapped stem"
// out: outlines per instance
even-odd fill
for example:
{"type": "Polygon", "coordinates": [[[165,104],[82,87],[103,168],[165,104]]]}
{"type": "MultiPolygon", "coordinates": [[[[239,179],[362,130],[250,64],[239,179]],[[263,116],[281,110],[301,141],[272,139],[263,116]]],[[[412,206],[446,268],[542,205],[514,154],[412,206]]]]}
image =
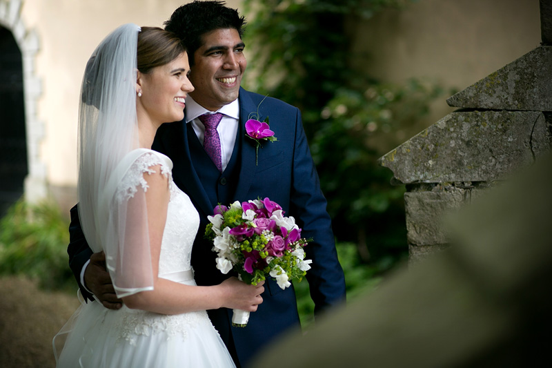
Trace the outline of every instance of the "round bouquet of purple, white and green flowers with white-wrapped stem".
{"type": "MultiPolygon", "coordinates": [[[[217,252],[217,269],[228,273],[234,269],[240,280],[256,285],[269,275],[278,286],[286,289],[290,280],[302,280],[312,260],[305,260],[301,229],[292,216],[284,216],[277,203],[264,200],[218,205],[205,237],[213,241],[217,252]]],[[[249,312],[234,310],[233,326],[245,327],[249,312]]]]}

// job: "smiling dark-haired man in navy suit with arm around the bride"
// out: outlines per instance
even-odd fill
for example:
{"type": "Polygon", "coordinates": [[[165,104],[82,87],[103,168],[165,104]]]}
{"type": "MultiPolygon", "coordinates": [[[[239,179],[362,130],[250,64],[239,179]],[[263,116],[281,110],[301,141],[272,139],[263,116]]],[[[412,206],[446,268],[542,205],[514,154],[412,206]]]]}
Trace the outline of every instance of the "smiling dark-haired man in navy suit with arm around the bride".
{"type": "MultiPolygon", "coordinates": [[[[189,78],[195,90],[186,99],[184,120],[161,126],[152,148],[172,159],[173,179],[189,195],[201,218],[192,253],[197,284],[219,284],[227,277],[216,269],[213,244],[203,237],[213,208],[219,203],[269,197],[286,215],[295,217],[303,229],[302,237],[313,238],[305,249],[307,258],[313,260],[306,278],[315,313],[319,313],[345,299],[331,219],[299,110],[240,87],[247,64],[244,23],[244,17],[220,1],[188,3],[166,21],[166,29],[175,32],[188,48],[189,78]],[[277,137],[276,142],[264,142],[258,155],[244,127],[250,113],[257,111],[259,120],[270,118],[270,130],[277,137]],[[201,115],[215,112],[222,117],[217,127],[220,157],[213,161],[204,149],[206,128],[201,115]]],[[[68,253],[83,296],[91,298],[89,289],[106,307],[119,307],[108,274],[102,269],[101,254],[92,255],[88,249],[75,208],[71,215],[68,253]],[[88,260],[90,264],[85,264],[88,260]]],[[[208,311],[237,366],[245,365],[283,331],[299,327],[293,287],[282,290],[273,280],[264,286],[263,303],[251,313],[247,327],[231,327],[231,310],[208,311]]]]}

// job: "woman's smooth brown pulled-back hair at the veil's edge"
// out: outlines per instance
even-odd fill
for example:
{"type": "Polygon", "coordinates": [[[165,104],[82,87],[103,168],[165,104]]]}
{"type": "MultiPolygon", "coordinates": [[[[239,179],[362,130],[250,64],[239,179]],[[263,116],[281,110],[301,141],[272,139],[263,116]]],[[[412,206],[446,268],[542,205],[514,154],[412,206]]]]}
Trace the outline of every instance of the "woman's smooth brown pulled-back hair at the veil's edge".
{"type": "Polygon", "coordinates": [[[186,48],[172,32],[158,27],[141,27],[138,34],[138,70],[148,74],[152,68],[170,63],[186,48]]]}

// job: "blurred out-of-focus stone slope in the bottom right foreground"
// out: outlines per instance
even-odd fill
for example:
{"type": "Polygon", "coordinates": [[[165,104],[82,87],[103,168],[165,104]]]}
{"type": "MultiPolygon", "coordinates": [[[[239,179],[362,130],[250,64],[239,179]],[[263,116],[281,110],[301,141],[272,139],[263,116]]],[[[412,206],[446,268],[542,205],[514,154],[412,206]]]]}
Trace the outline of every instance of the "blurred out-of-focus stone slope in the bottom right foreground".
{"type": "Polygon", "coordinates": [[[550,367],[551,168],[544,155],[473,201],[446,222],[449,249],[251,367],[550,367]]]}

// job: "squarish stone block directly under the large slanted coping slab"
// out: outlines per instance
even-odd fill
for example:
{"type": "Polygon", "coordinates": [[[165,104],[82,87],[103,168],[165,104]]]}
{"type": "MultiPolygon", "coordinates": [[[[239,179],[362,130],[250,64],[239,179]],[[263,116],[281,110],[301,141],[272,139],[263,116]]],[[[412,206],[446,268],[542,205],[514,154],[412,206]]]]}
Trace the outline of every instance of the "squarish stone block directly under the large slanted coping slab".
{"type": "Polygon", "coordinates": [[[448,243],[449,236],[443,221],[446,215],[465,203],[464,198],[462,190],[404,193],[408,244],[426,246],[448,243]]]}

